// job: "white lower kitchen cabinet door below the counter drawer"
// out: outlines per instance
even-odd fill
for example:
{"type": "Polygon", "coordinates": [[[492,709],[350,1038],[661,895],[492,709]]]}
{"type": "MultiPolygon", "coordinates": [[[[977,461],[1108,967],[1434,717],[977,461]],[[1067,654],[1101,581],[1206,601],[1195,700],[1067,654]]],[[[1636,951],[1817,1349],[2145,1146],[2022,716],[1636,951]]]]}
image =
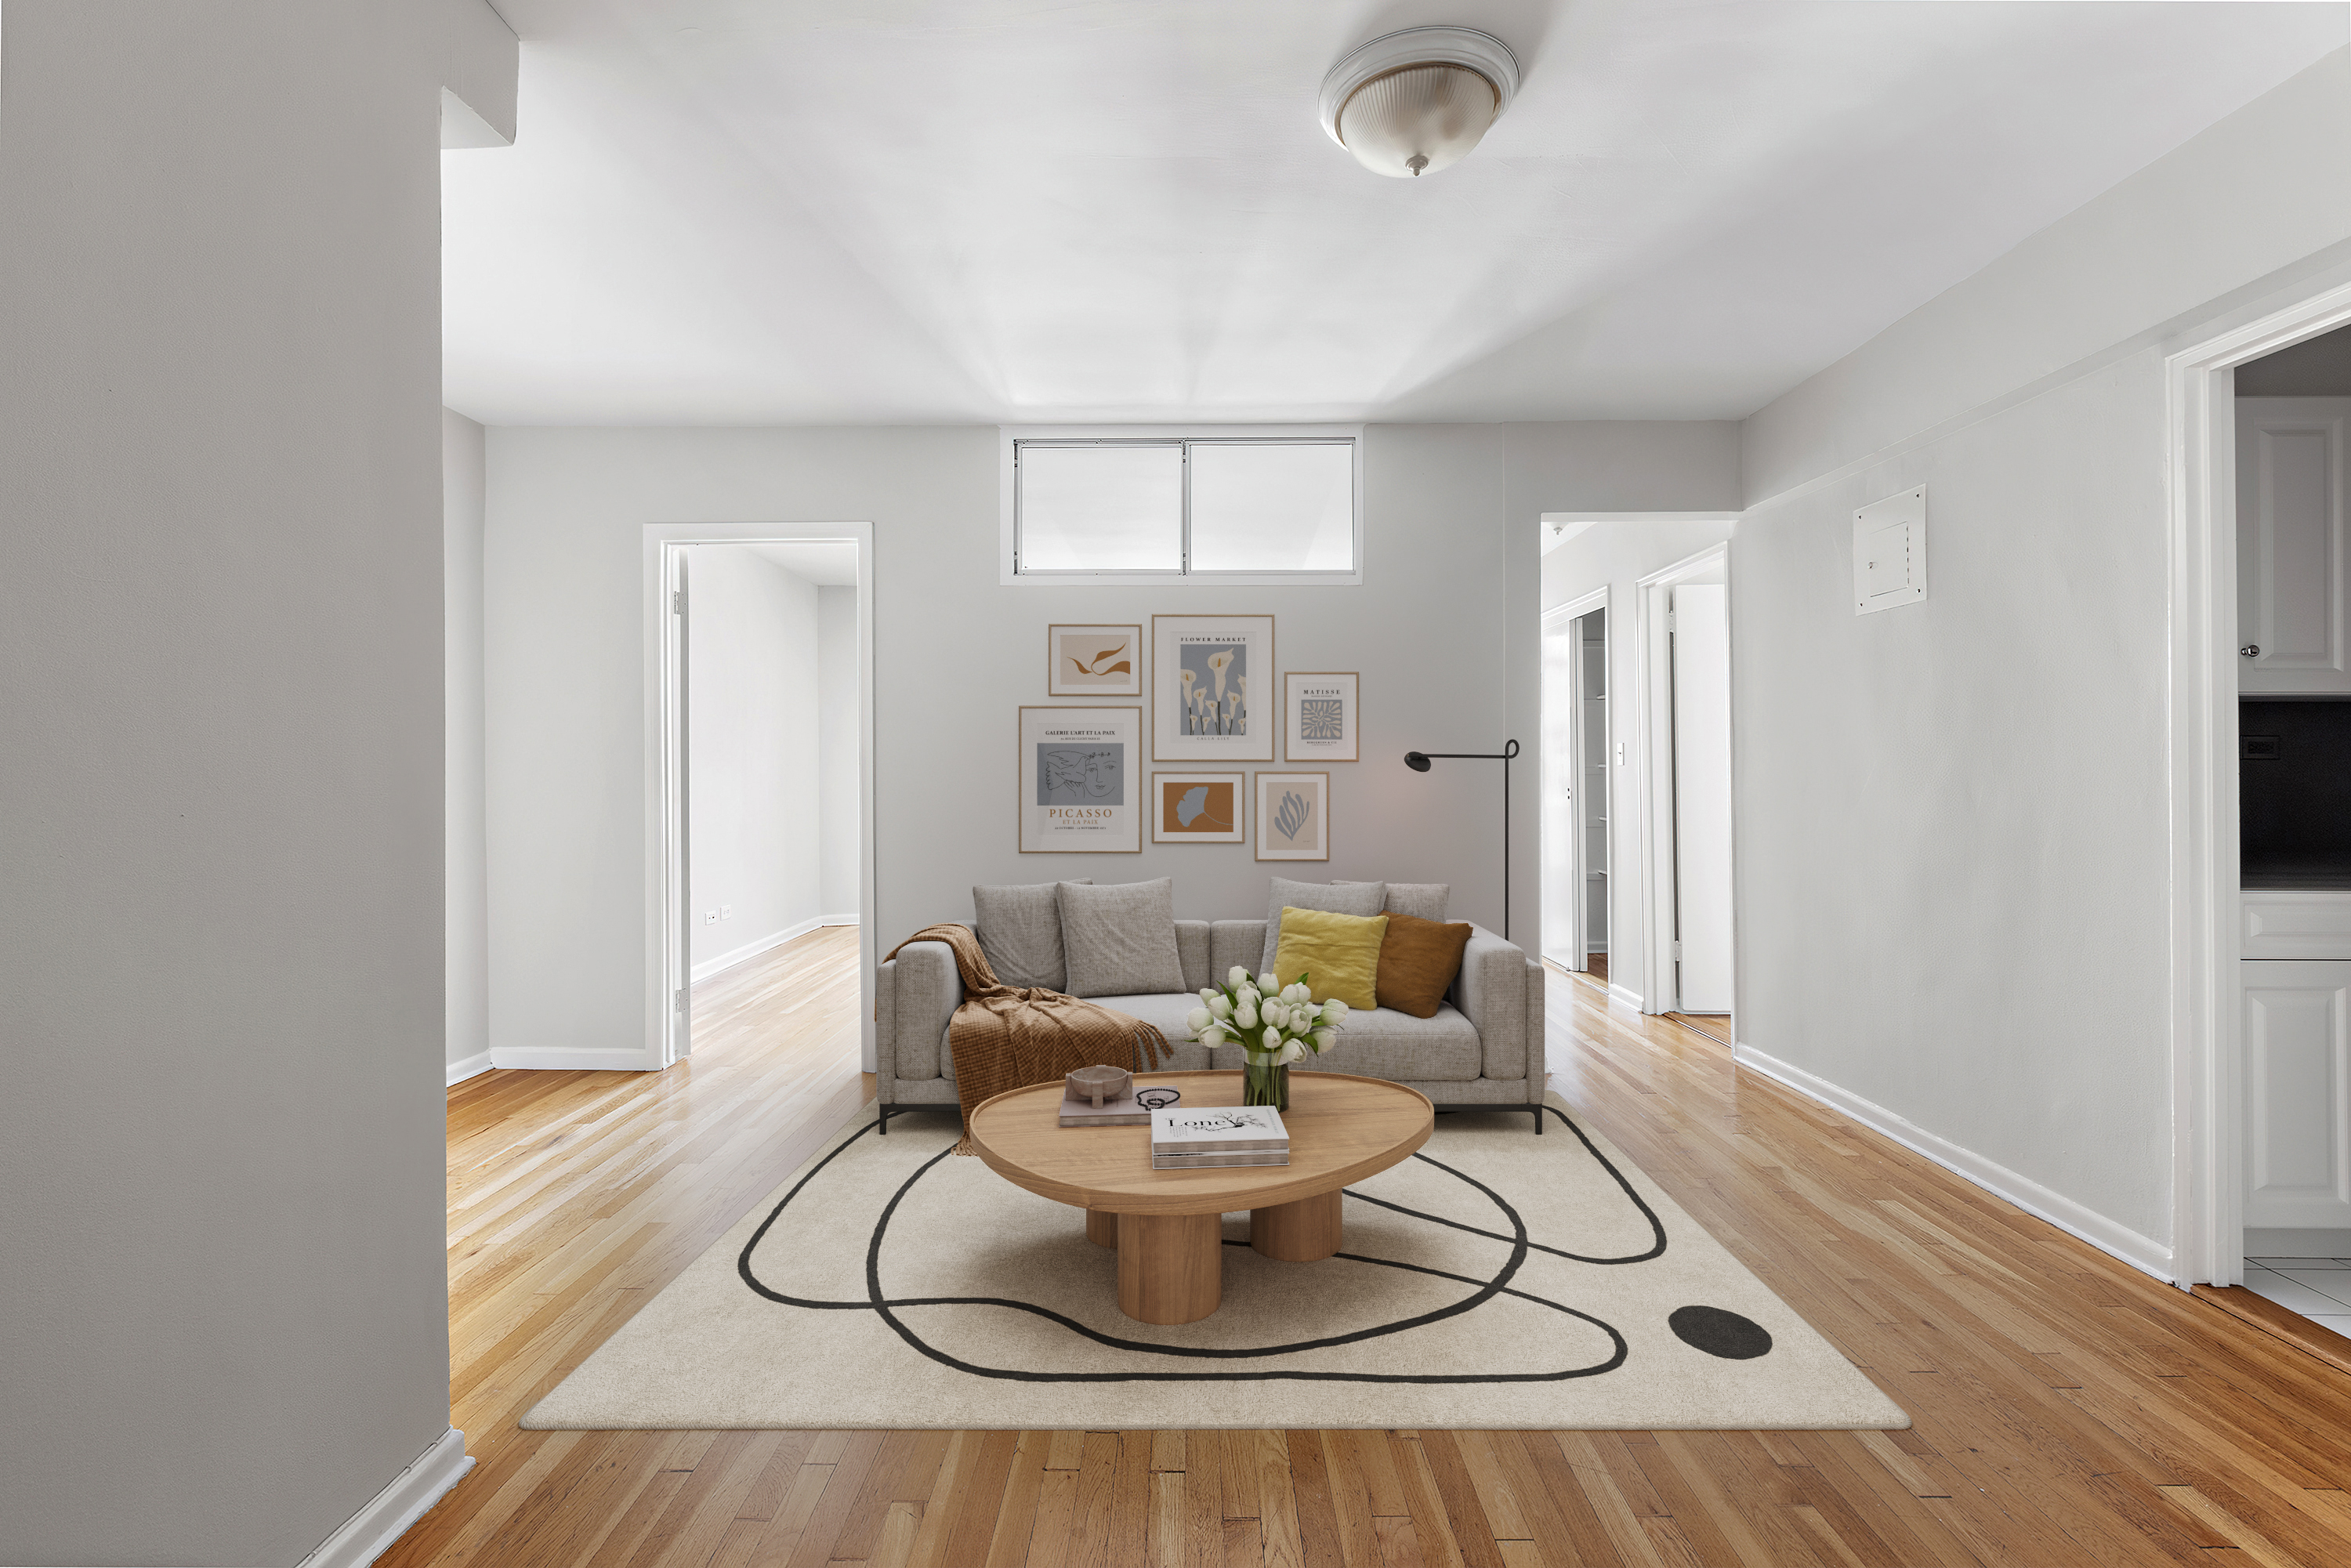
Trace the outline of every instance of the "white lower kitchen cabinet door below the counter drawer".
{"type": "Polygon", "coordinates": [[[2245,971],[2245,1225],[2351,1229],[2351,964],[2245,971]]]}

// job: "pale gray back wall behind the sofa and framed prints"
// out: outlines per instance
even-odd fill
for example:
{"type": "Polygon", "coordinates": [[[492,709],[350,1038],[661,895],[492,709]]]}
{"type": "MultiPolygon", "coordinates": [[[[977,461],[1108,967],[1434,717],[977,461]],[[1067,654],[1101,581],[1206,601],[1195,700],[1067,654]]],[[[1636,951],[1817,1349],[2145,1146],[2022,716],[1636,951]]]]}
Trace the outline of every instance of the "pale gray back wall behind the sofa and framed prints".
{"type": "MultiPolygon", "coordinates": [[[[1335,764],[1328,865],[1451,882],[1500,926],[1498,764],[1406,750],[1519,736],[1514,929],[1535,940],[1538,520],[1723,505],[1733,425],[1373,425],[1361,588],[1004,588],[997,430],[489,433],[491,1025],[501,1048],[642,1048],[642,524],[875,524],[877,929],[969,919],[976,882],[1176,877],[1185,917],[1255,914],[1248,846],[1023,856],[1016,710],[1053,621],[1274,614],[1284,668],[1359,670],[1364,762],[1335,764]],[[1521,646],[1523,644],[1523,646],[1521,646]],[[1519,668],[1523,651],[1523,670],[1519,668]]],[[[1279,764],[1267,764],[1279,766],[1279,764]]],[[[741,922],[738,922],[741,924],[741,922]]]]}

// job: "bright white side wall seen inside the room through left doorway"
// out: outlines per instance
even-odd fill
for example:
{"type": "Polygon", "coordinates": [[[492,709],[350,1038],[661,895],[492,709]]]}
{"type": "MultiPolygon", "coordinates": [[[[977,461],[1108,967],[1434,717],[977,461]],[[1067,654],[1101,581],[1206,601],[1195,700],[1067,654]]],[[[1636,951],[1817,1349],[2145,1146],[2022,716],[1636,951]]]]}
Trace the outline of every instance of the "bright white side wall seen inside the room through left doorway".
{"type": "Polygon", "coordinates": [[[694,976],[806,931],[823,912],[816,583],[745,545],[696,545],[691,574],[694,976]],[[708,912],[719,910],[719,924],[708,912]]]}

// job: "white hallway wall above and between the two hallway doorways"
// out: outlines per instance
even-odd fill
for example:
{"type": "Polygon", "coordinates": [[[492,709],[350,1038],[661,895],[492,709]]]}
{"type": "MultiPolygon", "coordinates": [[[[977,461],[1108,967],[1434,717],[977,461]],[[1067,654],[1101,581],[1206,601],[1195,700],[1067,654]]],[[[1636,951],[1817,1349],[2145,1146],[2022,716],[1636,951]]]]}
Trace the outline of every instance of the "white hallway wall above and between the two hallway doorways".
{"type": "Polygon", "coordinates": [[[1648,898],[1641,875],[1641,804],[1650,783],[1646,748],[1634,729],[1641,712],[1636,583],[1726,538],[1728,522],[1599,522],[1542,557],[1542,609],[1608,588],[1608,985],[1629,997],[1641,997],[1648,964],[1641,938],[1641,905],[1648,898]],[[1617,741],[1625,743],[1622,764],[1615,759],[1617,741]]]}

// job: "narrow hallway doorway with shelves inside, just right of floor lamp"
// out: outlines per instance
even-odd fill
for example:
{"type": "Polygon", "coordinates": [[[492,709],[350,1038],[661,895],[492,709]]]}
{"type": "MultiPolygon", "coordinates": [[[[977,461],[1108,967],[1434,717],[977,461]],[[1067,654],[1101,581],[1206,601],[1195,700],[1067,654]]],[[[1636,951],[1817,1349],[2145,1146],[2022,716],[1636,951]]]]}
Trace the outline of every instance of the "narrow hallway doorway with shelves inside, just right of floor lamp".
{"type": "Polygon", "coordinates": [[[1542,618],[1542,957],[1608,985],[1608,590],[1542,618]]]}

